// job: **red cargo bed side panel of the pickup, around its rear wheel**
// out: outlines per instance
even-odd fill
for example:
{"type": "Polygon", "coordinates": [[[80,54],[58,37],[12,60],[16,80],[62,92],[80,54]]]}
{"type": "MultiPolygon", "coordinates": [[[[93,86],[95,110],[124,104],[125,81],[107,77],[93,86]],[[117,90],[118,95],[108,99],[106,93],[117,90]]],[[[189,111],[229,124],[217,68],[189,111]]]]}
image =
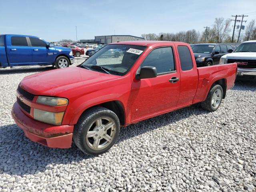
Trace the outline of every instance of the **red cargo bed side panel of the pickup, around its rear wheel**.
{"type": "Polygon", "coordinates": [[[236,80],[237,64],[222,64],[197,68],[198,86],[193,103],[202,102],[214,82],[224,80],[227,90],[232,88],[236,80]]]}

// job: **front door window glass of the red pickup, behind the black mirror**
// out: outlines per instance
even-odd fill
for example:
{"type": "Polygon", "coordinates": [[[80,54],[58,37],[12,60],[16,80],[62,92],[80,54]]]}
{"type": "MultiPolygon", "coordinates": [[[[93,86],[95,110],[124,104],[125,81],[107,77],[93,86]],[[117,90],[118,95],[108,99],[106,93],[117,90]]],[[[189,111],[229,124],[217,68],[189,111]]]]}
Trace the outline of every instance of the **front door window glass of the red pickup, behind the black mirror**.
{"type": "Polygon", "coordinates": [[[163,74],[175,70],[172,47],[156,48],[150,52],[140,67],[156,67],[157,74],[163,74]]]}

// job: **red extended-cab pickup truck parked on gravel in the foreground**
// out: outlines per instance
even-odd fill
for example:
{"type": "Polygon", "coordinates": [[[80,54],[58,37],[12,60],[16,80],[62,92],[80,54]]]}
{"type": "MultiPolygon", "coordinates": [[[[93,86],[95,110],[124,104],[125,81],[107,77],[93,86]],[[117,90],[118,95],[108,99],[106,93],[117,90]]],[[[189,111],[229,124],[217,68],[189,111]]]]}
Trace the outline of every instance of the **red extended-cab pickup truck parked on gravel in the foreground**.
{"type": "Polygon", "coordinates": [[[120,127],[201,102],[216,111],[234,85],[237,65],[196,68],[189,44],[118,42],[77,67],[25,77],[12,116],[32,141],[102,154],[120,127]],[[110,49],[123,55],[105,57],[110,49]]]}

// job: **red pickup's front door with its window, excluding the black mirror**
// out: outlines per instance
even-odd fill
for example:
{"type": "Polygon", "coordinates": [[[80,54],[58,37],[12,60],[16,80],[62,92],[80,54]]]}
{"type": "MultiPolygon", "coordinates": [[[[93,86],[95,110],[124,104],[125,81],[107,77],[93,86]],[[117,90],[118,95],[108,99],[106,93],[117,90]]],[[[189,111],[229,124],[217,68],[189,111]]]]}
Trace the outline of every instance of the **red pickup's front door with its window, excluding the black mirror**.
{"type": "Polygon", "coordinates": [[[180,72],[173,52],[172,46],[155,48],[140,65],[140,67],[156,67],[157,77],[140,80],[134,78],[132,82],[132,122],[176,107],[180,80],[172,83],[170,79],[180,78],[180,72]]]}

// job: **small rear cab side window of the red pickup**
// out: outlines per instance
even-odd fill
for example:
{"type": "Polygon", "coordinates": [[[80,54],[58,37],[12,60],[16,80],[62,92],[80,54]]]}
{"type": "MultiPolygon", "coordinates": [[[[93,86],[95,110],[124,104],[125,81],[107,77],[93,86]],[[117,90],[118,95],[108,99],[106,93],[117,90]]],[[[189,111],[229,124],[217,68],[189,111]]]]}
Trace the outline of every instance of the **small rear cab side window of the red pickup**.
{"type": "Polygon", "coordinates": [[[178,53],[180,57],[180,66],[182,71],[187,71],[193,68],[193,62],[190,51],[187,46],[178,46],[178,53]]]}

